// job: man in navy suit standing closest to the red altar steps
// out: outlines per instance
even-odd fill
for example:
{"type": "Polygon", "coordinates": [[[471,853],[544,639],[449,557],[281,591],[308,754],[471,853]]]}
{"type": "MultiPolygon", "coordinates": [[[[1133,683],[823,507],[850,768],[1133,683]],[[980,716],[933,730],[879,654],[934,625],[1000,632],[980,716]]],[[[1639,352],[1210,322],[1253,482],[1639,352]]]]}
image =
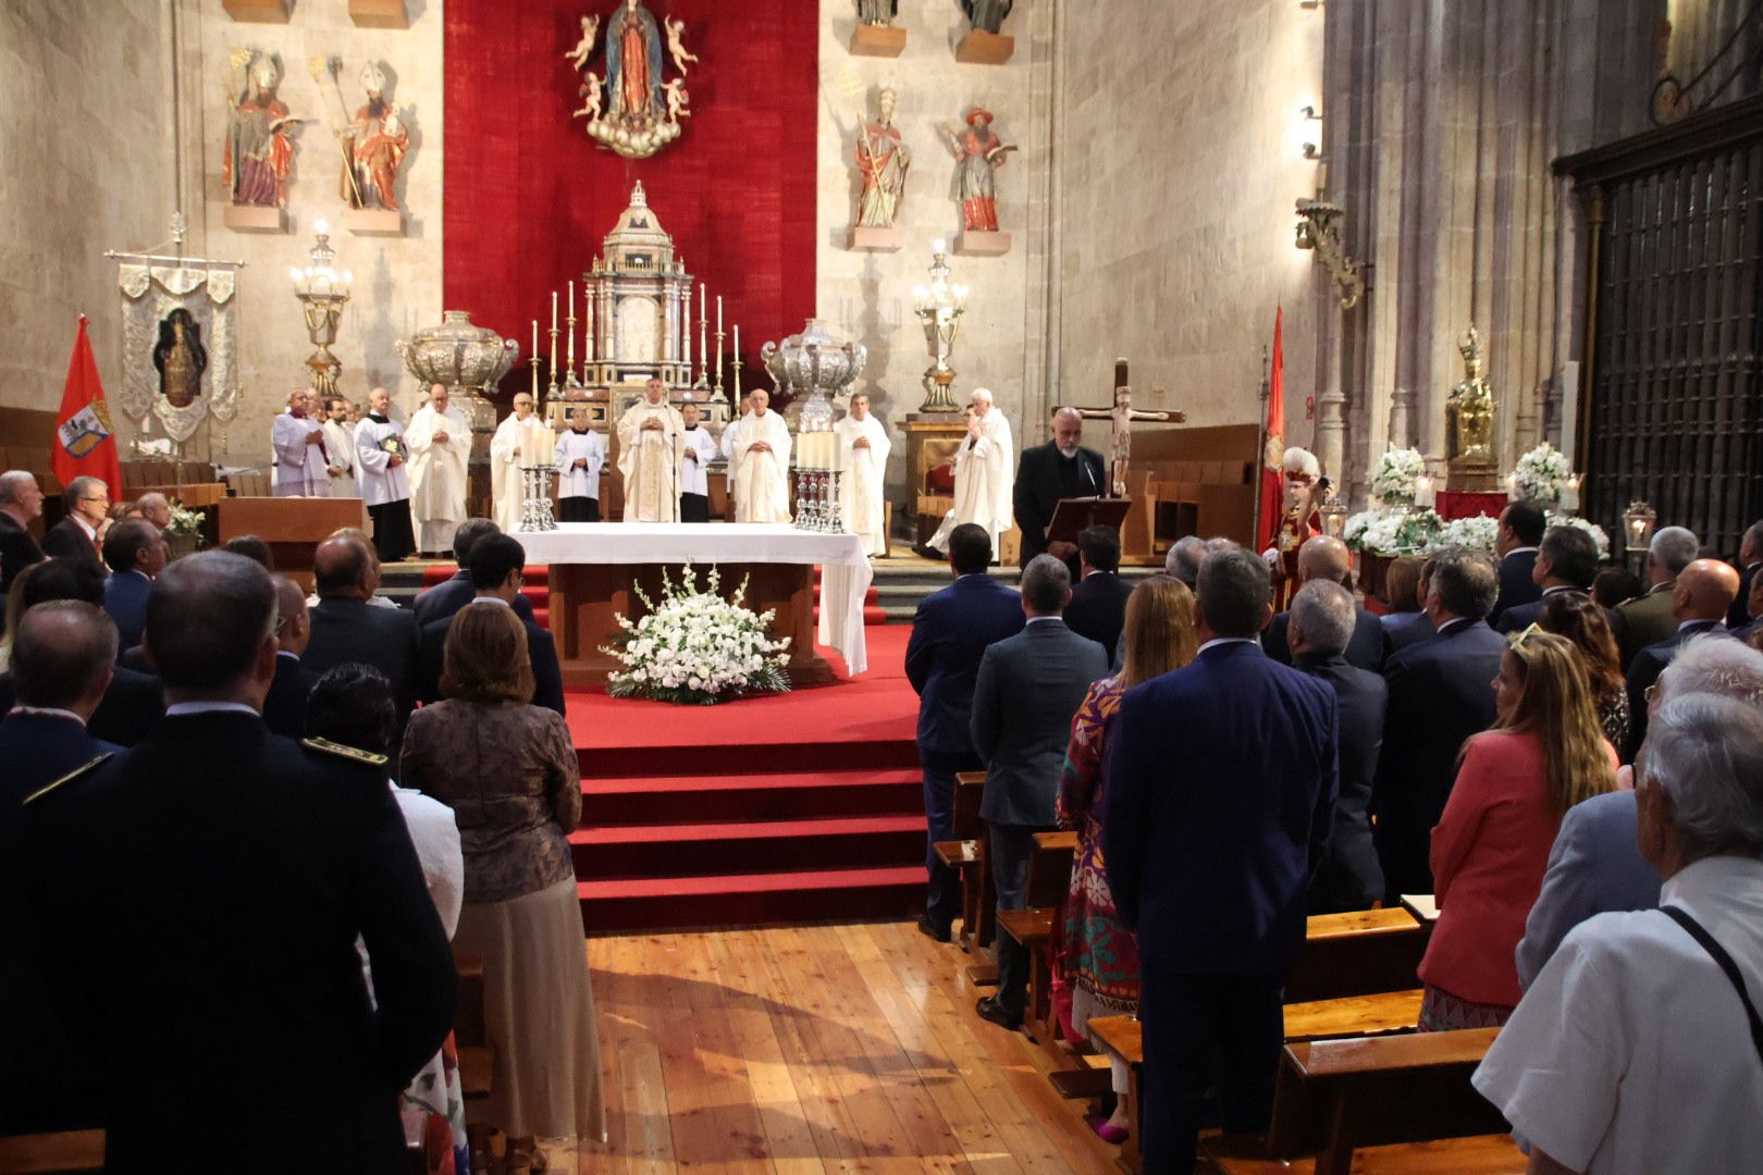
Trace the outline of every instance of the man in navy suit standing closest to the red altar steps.
{"type": "Polygon", "coordinates": [[[956,581],[919,604],[906,641],[906,680],[919,692],[919,763],[924,766],[924,819],[929,893],[919,930],[938,942],[961,913],[961,876],[936,860],[936,842],[954,840],[956,772],[986,765],[973,752],[968,715],[973,682],[987,645],[1023,631],[1023,597],[998,583],[986,527],[963,523],[948,532],[948,567],[956,581]]]}

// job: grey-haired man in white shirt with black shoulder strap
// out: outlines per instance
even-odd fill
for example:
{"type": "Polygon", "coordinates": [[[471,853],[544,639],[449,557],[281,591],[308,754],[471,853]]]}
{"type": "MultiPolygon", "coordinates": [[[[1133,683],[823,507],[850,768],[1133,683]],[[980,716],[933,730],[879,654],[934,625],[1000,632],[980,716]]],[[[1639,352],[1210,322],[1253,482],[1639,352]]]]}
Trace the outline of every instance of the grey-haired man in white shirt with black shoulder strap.
{"type": "Polygon", "coordinates": [[[1636,765],[1659,909],[1576,927],[1474,1085],[1532,1175],[1763,1170],[1763,713],[1673,694],[1636,765]]]}

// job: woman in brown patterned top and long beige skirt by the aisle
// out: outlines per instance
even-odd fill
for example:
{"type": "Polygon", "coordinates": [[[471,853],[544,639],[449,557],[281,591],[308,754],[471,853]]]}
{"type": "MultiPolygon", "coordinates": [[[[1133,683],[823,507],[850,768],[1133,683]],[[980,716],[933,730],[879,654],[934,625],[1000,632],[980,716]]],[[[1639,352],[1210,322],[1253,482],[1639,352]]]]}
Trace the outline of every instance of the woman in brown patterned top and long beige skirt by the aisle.
{"type": "Polygon", "coordinates": [[[569,854],[582,770],[569,726],[531,705],[527,631],[502,601],[480,597],[453,617],[441,694],[411,715],[402,782],[453,809],[465,854],[453,946],[483,960],[495,1046],[490,1097],[467,1117],[508,1133],[508,1170],[538,1170],[538,1138],[606,1134],[569,854]]]}

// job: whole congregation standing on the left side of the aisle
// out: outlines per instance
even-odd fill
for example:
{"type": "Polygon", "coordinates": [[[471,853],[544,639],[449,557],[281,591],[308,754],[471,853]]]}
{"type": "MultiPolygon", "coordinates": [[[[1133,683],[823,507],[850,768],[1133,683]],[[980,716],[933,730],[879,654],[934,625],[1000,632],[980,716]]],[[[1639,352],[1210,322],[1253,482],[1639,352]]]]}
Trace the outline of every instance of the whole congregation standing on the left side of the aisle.
{"type": "Polygon", "coordinates": [[[462,520],[409,610],[346,528],[309,595],[256,537],[167,562],[160,502],[109,520],[85,481],[51,528],[83,546],[51,548],[0,474],[0,1134],[102,1127],[108,1170],[471,1170],[460,957],[499,1170],[601,1140],[580,768],[520,543],[462,520]]]}

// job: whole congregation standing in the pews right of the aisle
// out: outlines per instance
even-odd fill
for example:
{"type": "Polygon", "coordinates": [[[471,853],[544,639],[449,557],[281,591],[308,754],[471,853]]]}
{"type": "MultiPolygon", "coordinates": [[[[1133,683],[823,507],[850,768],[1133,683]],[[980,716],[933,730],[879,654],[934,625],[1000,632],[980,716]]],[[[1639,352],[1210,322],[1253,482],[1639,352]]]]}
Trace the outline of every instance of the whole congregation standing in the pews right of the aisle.
{"type": "MultiPolygon", "coordinates": [[[[1058,428],[1019,521],[1090,476],[1058,428]]],[[[1098,1136],[1137,1120],[1142,1170],[1186,1171],[1202,1126],[1264,1133],[1306,916],[1409,897],[1437,909],[1414,1027],[1506,1025],[1474,1085],[1532,1171],[1763,1166],[1763,523],[1731,562],[1664,527],[1641,581],[1511,502],[1495,557],[1396,558],[1370,599],[1320,534],[1291,571],[1185,537],[1134,587],[1112,530],[1031,528],[1012,592],[994,536],[952,527],[913,620],[919,928],[961,918],[957,773],[986,775],[1000,923],[1033,835],[1075,831],[1061,1024],[1142,1027],[1137,1113],[1116,1055],[1098,1136]]],[[[977,1013],[1014,1031],[1028,960],[996,946],[977,1013]]]]}

